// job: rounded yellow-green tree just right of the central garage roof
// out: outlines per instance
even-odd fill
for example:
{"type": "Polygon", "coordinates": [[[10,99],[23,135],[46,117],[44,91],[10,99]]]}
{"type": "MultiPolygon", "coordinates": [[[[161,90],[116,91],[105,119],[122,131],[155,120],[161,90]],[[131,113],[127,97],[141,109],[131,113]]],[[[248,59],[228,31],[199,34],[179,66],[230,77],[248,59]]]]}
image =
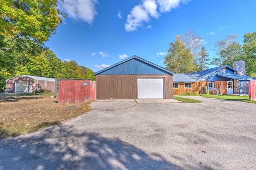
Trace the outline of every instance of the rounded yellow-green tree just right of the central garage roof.
{"type": "Polygon", "coordinates": [[[194,57],[183,41],[183,36],[177,35],[175,42],[170,43],[167,55],[164,57],[166,69],[175,73],[189,73],[198,70],[194,57]]]}

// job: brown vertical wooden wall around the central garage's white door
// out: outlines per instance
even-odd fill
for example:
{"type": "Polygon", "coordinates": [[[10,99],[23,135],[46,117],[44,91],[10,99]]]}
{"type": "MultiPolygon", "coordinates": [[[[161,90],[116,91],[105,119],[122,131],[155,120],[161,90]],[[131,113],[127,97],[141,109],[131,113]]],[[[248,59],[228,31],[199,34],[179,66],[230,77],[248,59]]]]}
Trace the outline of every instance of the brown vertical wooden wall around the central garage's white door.
{"type": "Polygon", "coordinates": [[[172,99],[172,75],[96,75],[97,99],[137,99],[138,78],[164,78],[164,96],[172,99]]]}

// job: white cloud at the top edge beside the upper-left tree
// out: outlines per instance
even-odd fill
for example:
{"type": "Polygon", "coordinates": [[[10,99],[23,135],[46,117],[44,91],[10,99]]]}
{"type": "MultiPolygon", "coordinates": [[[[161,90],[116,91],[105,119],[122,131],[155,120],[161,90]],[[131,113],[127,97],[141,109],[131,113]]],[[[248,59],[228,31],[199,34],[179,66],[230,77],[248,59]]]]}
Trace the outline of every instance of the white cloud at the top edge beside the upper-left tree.
{"type": "Polygon", "coordinates": [[[58,9],[68,18],[92,24],[97,14],[95,9],[97,3],[97,0],[64,0],[58,3],[58,9]]]}

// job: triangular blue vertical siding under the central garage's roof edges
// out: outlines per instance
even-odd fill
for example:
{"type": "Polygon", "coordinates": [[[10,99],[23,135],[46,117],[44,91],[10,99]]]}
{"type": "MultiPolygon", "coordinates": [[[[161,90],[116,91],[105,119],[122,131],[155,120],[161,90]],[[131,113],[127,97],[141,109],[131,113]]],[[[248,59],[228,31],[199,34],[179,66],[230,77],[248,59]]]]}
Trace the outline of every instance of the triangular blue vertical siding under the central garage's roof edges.
{"type": "Polygon", "coordinates": [[[136,58],[128,60],[122,64],[114,66],[104,72],[101,72],[100,75],[132,75],[132,74],[170,74],[152,66],[151,64],[140,61],[136,58]]]}

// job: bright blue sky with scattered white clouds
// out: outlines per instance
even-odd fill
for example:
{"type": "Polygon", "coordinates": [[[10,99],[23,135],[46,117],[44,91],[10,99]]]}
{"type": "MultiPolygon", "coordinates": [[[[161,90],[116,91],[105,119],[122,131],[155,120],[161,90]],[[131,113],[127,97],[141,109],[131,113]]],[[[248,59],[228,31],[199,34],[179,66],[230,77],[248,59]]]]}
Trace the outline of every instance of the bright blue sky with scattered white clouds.
{"type": "Polygon", "coordinates": [[[214,41],[236,34],[242,43],[256,31],[255,0],[64,0],[58,8],[66,18],[46,46],[95,72],[133,55],[164,67],[170,42],[188,29],[210,58],[214,41]]]}

